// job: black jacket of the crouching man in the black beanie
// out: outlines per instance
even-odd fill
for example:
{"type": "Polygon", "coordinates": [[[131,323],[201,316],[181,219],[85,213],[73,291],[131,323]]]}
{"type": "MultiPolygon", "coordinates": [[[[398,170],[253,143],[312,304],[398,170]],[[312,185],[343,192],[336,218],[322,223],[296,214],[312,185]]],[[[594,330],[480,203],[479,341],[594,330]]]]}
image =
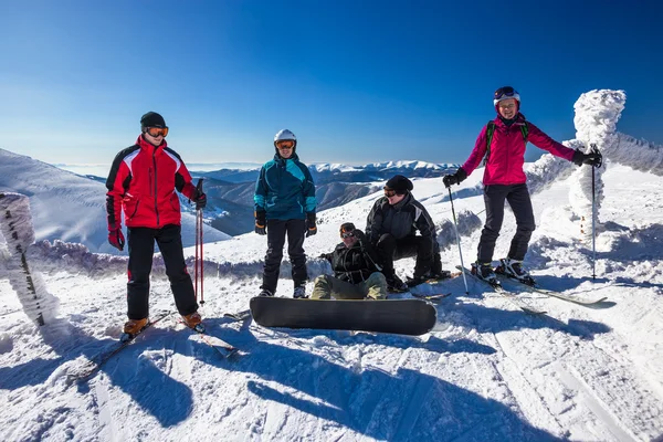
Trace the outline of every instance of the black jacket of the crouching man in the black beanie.
{"type": "Polygon", "coordinates": [[[366,219],[366,238],[376,244],[381,235],[391,233],[397,240],[417,234],[435,241],[435,225],[431,215],[412,193],[398,204],[390,206],[387,197],[376,201],[366,219]]]}

